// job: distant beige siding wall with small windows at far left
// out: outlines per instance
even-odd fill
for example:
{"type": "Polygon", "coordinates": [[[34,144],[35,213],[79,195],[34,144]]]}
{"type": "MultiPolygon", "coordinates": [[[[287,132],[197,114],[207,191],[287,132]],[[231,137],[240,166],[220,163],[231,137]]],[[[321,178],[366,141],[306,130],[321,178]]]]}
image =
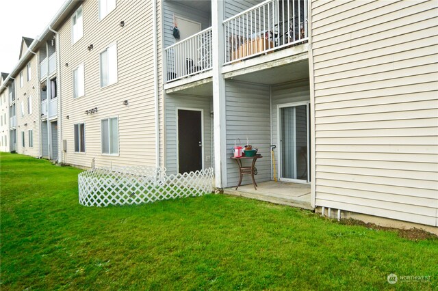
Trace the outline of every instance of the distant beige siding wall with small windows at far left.
{"type": "MultiPolygon", "coordinates": [[[[37,54],[38,55],[38,54],[37,54]]],[[[26,154],[27,156],[40,156],[40,115],[39,115],[39,103],[40,103],[40,86],[38,85],[39,74],[39,61],[37,55],[32,55],[29,61],[23,64],[23,87],[20,87],[19,82],[19,72],[17,74],[16,80],[18,81],[18,86],[16,85],[16,152],[18,154],[26,154]],[[31,64],[31,79],[27,81],[27,64],[31,64]],[[26,94],[26,95],[25,95],[26,94]],[[32,96],[32,113],[27,113],[27,98],[32,96]],[[21,116],[21,102],[23,102],[24,116],[21,116]],[[27,124],[27,125],[25,125],[27,124]],[[34,146],[29,148],[29,130],[34,130],[34,146]],[[21,132],[25,132],[25,147],[23,148],[23,143],[21,141],[21,132]]]]}

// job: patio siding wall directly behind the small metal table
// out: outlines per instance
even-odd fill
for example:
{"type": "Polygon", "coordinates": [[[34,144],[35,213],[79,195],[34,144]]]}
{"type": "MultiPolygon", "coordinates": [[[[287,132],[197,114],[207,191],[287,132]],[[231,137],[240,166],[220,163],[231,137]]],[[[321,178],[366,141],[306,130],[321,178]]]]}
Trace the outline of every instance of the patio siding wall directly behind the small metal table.
{"type": "MultiPolygon", "coordinates": [[[[257,182],[270,180],[270,87],[254,83],[237,81],[225,82],[226,114],[227,114],[227,186],[236,186],[239,182],[239,168],[230,157],[233,155],[235,139],[240,138],[240,146],[246,143],[258,148],[260,158],[257,163],[257,182]]],[[[239,141],[237,141],[237,144],[239,141]]],[[[244,161],[247,164],[249,161],[244,161]]],[[[251,178],[245,175],[242,184],[250,184],[251,178]]]]}

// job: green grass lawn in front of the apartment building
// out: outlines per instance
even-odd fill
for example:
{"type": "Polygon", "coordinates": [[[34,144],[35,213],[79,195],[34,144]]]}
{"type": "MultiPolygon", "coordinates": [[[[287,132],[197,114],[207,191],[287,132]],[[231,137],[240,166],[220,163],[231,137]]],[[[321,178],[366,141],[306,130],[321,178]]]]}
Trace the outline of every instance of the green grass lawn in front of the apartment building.
{"type": "Polygon", "coordinates": [[[1,154],[1,290],[438,288],[437,239],[227,195],[87,208],[79,172],[1,154]]]}

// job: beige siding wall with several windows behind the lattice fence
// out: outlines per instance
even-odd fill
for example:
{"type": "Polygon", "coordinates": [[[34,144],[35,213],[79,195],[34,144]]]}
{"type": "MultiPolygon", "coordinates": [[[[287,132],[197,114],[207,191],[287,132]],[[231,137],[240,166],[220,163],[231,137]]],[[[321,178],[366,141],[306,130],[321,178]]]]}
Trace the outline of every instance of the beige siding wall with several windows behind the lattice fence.
{"type": "Polygon", "coordinates": [[[97,1],[83,2],[83,37],[71,44],[71,21],[60,28],[62,70],[62,139],[66,163],[96,166],[155,165],[153,90],[153,11],[151,1],[117,1],[99,21],[97,1]],[[120,21],[125,27],[120,27],[120,21]],[[93,44],[91,51],[87,47],[93,44]],[[100,53],[117,46],[115,84],[101,88],[100,53]],[[73,98],[73,70],[83,63],[85,96],[73,98]],[[123,105],[128,100],[129,105],[123,105]],[[88,109],[98,112],[86,115],[88,109]],[[69,116],[66,119],[66,115],[69,116]],[[101,154],[101,120],[118,117],[118,155],[101,154]],[[74,152],[74,124],[86,124],[86,153],[74,152]]]}

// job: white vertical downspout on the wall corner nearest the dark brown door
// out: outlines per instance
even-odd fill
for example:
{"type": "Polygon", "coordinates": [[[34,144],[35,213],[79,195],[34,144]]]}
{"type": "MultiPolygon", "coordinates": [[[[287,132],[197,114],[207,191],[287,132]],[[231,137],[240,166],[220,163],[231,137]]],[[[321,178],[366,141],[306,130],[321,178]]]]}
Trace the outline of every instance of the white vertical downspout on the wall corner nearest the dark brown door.
{"type": "Polygon", "coordinates": [[[158,112],[158,48],[157,48],[157,0],[152,1],[153,10],[153,90],[155,96],[155,166],[159,167],[159,112],[158,112]]]}

